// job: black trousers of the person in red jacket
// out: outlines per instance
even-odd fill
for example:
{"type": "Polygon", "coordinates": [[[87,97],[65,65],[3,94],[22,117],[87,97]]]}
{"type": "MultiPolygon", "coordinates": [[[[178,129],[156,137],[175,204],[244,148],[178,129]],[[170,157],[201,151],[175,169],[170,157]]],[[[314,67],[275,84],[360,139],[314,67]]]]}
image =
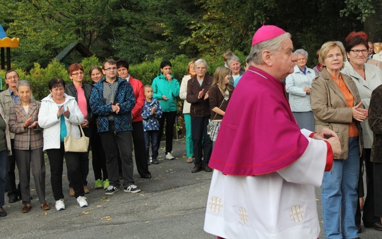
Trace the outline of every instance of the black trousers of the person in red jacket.
{"type": "Polygon", "coordinates": [[[141,176],[151,175],[149,165],[147,164],[145,134],[143,131],[143,122],[132,122],[132,141],[134,143],[135,164],[137,164],[138,173],[141,176]]]}

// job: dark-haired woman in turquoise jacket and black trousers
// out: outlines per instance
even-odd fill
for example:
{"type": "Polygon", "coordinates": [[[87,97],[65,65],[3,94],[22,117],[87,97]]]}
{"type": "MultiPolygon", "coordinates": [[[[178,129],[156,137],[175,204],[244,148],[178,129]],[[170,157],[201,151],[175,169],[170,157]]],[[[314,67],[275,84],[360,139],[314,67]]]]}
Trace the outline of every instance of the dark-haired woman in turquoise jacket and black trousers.
{"type": "Polygon", "coordinates": [[[163,109],[162,117],[159,121],[159,140],[163,134],[163,126],[166,120],[166,159],[175,159],[171,154],[173,149],[173,129],[176,118],[176,97],[179,96],[179,82],[171,74],[170,61],[164,60],[160,63],[160,71],[152,82],[154,91],[153,97],[159,101],[163,109]]]}

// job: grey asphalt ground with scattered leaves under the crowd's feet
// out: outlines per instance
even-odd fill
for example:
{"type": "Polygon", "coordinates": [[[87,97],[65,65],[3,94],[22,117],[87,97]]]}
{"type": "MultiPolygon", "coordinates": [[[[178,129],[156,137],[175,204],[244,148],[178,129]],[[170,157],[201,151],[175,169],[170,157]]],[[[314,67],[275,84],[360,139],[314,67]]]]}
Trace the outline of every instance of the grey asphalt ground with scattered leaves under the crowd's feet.
{"type": "MultiPolygon", "coordinates": [[[[161,142],[164,146],[164,142],[161,142]]],[[[50,169],[46,159],[46,198],[51,206],[42,211],[31,175],[31,212],[21,213],[21,201],[8,203],[7,217],[0,218],[0,238],[216,238],[203,230],[205,206],[212,173],[191,173],[193,164],[187,164],[184,140],[175,140],[175,160],[166,160],[164,148],[159,150],[159,164],[150,165],[151,179],[140,178],[134,169],[135,185],[140,193],[125,193],[123,188],[114,195],[93,188],[94,173],[89,167],[88,207],[80,208],[69,196],[66,167],[63,189],[66,210],[56,211],[50,187],[50,169]]],[[[17,170],[16,170],[17,173],[17,170]]],[[[18,178],[18,173],[16,175],[18,178]]],[[[322,231],[320,189],[316,189],[317,208],[322,231]]],[[[382,231],[362,228],[360,237],[382,238],[382,231]]]]}

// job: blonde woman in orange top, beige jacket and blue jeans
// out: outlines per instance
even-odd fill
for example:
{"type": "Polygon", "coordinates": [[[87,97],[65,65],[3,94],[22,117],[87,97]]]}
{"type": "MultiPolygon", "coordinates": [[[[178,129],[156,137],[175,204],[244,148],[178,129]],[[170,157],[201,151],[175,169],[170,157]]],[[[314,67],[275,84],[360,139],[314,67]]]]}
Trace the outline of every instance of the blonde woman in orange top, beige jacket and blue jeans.
{"type": "Polygon", "coordinates": [[[326,238],[358,238],[354,216],[357,209],[359,157],[362,152],[360,122],[367,118],[356,84],[340,73],[345,49],[339,42],[326,42],[319,53],[321,75],[313,81],[311,107],[316,132],[322,128],[335,131],[342,154],[335,158],[331,172],[324,172],[322,182],[322,217],[326,238]]]}

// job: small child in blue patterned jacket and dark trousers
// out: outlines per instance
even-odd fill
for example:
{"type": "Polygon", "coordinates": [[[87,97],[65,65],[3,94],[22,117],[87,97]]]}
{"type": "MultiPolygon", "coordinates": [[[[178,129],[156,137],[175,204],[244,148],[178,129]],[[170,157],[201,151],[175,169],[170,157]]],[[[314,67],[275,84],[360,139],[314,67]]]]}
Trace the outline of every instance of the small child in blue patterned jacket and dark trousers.
{"type": "Polygon", "coordinates": [[[150,137],[151,137],[151,153],[152,163],[159,164],[157,160],[159,143],[159,122],[158,118],[162,116],[162,108],[156,99],[152,98],[153,89],[151,85],[145,85],[145,105],[142,108],[141,114],[143,118],[143,130],[145,134],[147,163],[150,165],[150,137]]]}

